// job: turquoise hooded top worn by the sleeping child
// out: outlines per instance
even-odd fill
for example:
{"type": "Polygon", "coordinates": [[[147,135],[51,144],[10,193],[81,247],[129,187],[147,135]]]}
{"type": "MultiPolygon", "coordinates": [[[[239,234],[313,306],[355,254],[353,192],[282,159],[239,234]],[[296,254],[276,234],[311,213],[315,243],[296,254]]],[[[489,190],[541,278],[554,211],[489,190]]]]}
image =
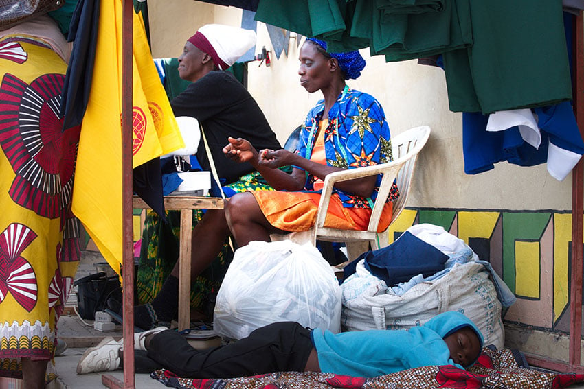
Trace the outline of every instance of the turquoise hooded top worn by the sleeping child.
{"type": "MultiPolygon", "coordinates": [[[[480,330],[467,316],[449,311],[424,325],[400,330],[368,330],[332,333],[315,329],[313,344],[323,373],[352,377],[377,377],[420,366],[453,365],[445,336],[462,327],[480,330]]],[[[473,364],[476,361],[473,361],[473,364]]]]}

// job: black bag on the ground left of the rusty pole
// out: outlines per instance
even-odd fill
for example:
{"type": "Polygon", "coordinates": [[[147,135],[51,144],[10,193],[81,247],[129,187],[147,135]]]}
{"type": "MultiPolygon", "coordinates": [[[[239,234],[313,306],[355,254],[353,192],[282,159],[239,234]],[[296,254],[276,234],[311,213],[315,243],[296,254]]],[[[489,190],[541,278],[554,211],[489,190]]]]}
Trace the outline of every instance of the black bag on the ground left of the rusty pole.
{"type": "Polygon", "coordinates": [[[86,320],[95,320],[96,311],[103,311],[108,298],[122,299],[122,285],[117,275],[106,272],[90,274],[73,283],[77,287],[77,310],[86,320]]]}

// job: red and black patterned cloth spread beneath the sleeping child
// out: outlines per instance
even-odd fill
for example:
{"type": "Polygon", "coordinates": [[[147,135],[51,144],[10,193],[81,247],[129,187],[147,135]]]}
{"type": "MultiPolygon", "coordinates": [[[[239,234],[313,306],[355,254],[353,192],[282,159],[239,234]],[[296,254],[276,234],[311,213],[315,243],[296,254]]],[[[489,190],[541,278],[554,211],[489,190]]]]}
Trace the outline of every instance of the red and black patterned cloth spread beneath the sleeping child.
{"type": "Polygon", "coordinates": [[[278,389],[278,388],[565,388],[584,381],[583,374],[546,373],[522,368],[508,349],[485,348],[468,371],[454,366],[426,366],[374,378],[348,377],[330,373],[273,373],[232,379],[187,379],[168,370],[151,374],[166,386],[179,389],[278,389]]]}

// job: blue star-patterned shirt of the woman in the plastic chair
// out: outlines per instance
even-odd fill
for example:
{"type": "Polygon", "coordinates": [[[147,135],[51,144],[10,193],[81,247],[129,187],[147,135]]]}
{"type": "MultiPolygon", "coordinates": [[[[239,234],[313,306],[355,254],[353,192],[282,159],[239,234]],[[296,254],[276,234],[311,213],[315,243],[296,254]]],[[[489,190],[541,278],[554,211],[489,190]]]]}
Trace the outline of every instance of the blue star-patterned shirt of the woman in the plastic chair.
{"type": "MultiPolygon", "coordinates": [[[[322,119],[323,112],[324,100],[311,109],[302,125],[297,152],[304,158],[311,157],[318,123],[322,119]]],[[[341,169],[355,169],[392,161],[390,128],[385,121],[381,104],[367,93],[346,87],[328,111],[324,150],[326,164],[341,169]]],[[[306,175],[305,188],[313,190],[315,178],[308,172],[306,175]]],[[[377,197],[380,182],[381,175],[377,177],[377,184],[371,196],[373,200],[377,197]]],[[[370,208],[367,198],[338,189],[333,189],[333,193],[339,194],[344,207],[370,208]]],[[[394,184],[388,202],[395,200],[398,196],[398,189],[394,184]]]]}

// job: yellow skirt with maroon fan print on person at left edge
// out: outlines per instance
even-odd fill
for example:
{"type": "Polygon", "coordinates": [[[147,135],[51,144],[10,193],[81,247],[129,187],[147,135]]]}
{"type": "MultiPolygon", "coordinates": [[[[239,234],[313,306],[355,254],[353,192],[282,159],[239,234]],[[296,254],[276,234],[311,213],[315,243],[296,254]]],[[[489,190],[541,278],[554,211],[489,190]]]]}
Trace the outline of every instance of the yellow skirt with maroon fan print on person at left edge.
{"type": "Polygon", "coordinates": [[[0,41],[0,376],[49,360],[80,257],[71,213],[80,128],[59,119],[67,65],[36,40],[0,41]]]}

